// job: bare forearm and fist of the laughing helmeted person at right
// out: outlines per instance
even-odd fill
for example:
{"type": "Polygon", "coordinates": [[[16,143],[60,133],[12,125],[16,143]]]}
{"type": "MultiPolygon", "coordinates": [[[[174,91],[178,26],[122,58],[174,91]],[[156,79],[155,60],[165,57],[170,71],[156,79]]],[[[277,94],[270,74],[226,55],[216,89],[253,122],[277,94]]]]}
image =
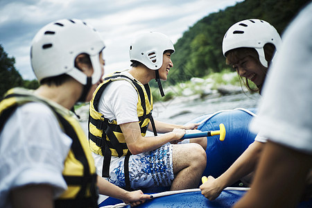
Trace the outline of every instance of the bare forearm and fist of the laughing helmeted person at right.
{"type": "Polygon", "coordinates": [[[209,200],[214,200],[220,195],[223,189],[254,171],[258,164],[261,150],[265,145],[259,141],[254,141],[225,173],[216,179],[209,176],[207,182],[200,186],[202,195],[209,200]]]}

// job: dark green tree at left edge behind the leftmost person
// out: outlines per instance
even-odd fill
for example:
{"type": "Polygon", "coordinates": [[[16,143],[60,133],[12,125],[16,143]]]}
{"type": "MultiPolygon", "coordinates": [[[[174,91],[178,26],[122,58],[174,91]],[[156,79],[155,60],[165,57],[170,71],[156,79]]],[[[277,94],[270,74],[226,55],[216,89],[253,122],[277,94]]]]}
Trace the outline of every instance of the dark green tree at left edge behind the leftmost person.
{"type": "Polygon", "coordinates": [[[0,96],[2,96],[12,87],[19,87],[23,84],[23,78],[15,69],[15,58],[8,58],[0,44],[0,96]]]}

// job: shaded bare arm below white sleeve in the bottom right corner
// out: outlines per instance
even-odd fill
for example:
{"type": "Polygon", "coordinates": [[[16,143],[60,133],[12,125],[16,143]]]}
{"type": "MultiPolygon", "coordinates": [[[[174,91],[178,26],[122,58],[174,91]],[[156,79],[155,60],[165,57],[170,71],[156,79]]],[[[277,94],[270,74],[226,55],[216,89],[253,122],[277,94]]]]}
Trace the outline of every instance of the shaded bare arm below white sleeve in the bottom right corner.
{"type": "Polygon", "coordinates": [[[311,155],[268,141],[250,191],[234,207],[296,207],[311,166],[311,155]]]}

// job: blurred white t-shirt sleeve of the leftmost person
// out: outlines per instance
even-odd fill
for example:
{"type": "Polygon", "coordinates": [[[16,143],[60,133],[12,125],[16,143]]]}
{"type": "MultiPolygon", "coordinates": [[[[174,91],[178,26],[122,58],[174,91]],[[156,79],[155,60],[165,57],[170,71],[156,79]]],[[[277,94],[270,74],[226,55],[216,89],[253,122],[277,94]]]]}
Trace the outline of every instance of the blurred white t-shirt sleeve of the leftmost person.
{"type": "Polygon", "coordinates": [[[70,147],[71,139],[49,107],[18,107],[0,135],[0,207],[10,189],[27,184],[49,184],[59,196],[67,189],[62,171],[70,147]]]}

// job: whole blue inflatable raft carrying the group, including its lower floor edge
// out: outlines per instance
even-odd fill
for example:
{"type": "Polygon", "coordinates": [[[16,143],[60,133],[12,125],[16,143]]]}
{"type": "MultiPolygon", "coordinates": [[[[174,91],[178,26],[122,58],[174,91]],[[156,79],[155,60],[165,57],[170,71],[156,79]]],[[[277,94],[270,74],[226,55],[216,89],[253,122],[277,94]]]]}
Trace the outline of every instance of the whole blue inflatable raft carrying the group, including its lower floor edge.
{"type": "MultiPolygon", "coordinates": [[[[224,110],[214,114],[200,116],[188,123],[200,123],[199,130],[219,130],[219,124],[225,125],[225,140],[220,141],[219,136],[207,137],[207,166],[203,176],[212,175],[218,177],[248,148],[256,135],[248,130],[249,123],[255,115],[255,109],[224,110]]],[[[154,187],[141,189],[144,193],[159,193],[168,191],[169,187],[154,187]]],[[[241,189],[241,188],[238,188],[241,189]]],[[[245,191],[224,190],[214,201],[209,201],[202,196],[198,189],[187,193],[177,193],[146,201],[138,207],[232,207],[245,191]]],[[[115,198],[107,198],[99,207],[109,207],[122,203],[115,198]]],[[[130,207],[130,206],[128,206],[130,207]]],[[[312,200],[301,202],[299,207],[312,207],[312,200]]]]}

